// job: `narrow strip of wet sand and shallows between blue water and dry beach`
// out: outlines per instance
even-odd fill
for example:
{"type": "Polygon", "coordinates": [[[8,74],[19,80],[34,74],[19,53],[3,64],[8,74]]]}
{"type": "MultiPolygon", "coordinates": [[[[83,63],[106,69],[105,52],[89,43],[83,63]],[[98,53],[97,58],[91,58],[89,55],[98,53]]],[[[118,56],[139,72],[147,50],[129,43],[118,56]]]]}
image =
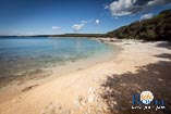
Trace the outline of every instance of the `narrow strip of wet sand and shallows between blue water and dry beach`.
{"type": "MultiPolygon", "coordinates": [[[[90,40],[97,40],[97,39],[94,38],[90,40]]],[[[107,43],[107,45],[110,45],[110,43],[107,43]]],[[[40,68],[41,71],[40,73],[28,75],[30,76],[28,78],[23,76],[21,78],[19,77],[19,79],[12,80],[7,86],[0,88],[0,98],[2,98],[0,99],[0,103],[11,100],[14,97],[20,96],[24,91],[27,91],[37,86],[47,84],[62,76],[69,75],[77,71],[86,69],[96,64],[100,64],[100,63],[112,60],[119,54],[121,49],[120,47],[115,47],[115,46],[111,46],[111,47],[117,48],[117,49],[113,49],[112,53],[107,52],[106,55],[101,55],[100,53],[100,56],[98,54],[98,55],[93,55],[87,59],[77,60],[76,62],[69,62],[68,64],[61,65],[61,66],[57,65],[57,66],[50,66],[47,68],[40,68]]]]}

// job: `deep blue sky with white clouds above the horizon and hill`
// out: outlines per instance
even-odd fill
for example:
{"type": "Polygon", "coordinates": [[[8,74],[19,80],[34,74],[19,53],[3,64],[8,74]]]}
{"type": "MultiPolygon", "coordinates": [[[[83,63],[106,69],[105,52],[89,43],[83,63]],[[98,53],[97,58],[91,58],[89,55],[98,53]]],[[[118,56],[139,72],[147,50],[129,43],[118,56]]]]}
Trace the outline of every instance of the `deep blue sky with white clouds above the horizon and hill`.
{"type": "Polygon", "coordinates": [[[0,0],[0,35],[103,34],[171,9],[171,0],[0,0]]]}

